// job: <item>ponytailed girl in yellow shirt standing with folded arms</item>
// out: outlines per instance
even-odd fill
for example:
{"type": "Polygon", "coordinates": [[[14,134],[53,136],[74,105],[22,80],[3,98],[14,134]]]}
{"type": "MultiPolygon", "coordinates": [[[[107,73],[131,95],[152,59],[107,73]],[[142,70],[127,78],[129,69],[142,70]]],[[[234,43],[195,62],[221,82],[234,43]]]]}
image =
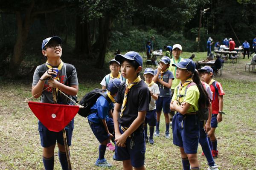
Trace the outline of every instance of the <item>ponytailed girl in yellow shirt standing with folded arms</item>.
{"type": "Polygon", "coordinates": [[[172,121],[173,144],[180,147],[184,170],[189,170],[189,166],[191,170],[200,170],[197,158],[200,122],[195,111],[199,110],[199,105],[209,107],[209,96],[193,60],[183,59],[172,66],[177,67],[175,74],[180,79],[170,104],[171,110],[177,111],[172,121]]]}

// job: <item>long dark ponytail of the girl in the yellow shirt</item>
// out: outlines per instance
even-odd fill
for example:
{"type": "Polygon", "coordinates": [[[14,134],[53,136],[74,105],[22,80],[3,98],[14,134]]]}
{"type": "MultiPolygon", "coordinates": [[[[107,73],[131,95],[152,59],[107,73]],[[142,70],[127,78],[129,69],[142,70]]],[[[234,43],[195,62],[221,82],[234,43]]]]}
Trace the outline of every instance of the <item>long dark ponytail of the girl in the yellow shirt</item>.
{"type": "Polygon", "coordinates": [[[205,108],[208,108],[210,105],[209,95],[208,95],[207,91],[205,90],[204,85],[200,81],[198,71],[195,71],[192,79],[193,79],[193,82],[195,82],[195,84],[198,86],[198,90],[200,93],[199,100],[198,100],[199,108],[201,108],[202,105],[205,106],[205,108]]]}

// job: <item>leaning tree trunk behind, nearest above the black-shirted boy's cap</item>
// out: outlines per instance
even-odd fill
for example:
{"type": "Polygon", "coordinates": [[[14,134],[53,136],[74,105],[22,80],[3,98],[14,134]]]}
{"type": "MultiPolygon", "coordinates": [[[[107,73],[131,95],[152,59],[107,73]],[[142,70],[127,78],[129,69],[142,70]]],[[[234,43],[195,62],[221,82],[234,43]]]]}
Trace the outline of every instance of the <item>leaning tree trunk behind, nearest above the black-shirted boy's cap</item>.
{"type": "Polygon", "coordinates": [[[99,18],[99,57],[96,62],[97,68],[102,68],[104,65],[108,41],[110,39],[109,33],[113,21],[113,17],[105,17],[105,23],[103,24],[103,18],[99,18]]]}

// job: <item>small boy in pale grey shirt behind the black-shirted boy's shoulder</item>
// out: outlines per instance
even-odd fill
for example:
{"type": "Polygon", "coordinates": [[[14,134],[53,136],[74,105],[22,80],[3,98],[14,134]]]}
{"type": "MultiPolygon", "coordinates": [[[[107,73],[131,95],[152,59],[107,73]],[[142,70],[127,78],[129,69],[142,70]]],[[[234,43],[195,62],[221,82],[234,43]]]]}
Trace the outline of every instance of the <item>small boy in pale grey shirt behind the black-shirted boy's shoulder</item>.
{"type": "Polygon", "coordinates": [[[149,103],[149,111],[146,113],[146,118],[144,122],[145,131],[145,142],[154,144],[153,134],[154,127],[157,125],[157,113],[156,113],[156,100],[158,99],[158,94],[160,94],[158,85],[152,80],[154,77],[154,70],[152,68],[146,68],[143,74],[145,78],[145,83],[148,85],[149,91],[151,93],[151,102],[149,103]],[[148,139],[148,125],[149,125],[149,139],[148,139]]]}

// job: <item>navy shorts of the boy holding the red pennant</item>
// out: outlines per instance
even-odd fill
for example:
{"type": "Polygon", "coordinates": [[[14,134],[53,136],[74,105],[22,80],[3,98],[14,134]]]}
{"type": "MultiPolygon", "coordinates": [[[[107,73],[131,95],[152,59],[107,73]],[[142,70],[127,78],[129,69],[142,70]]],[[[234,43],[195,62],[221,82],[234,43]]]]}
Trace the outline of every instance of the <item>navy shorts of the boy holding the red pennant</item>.
{"type": "MultiPolygon", "coordinates": [[[[65,127],[68,146],[71,145],[73,129],[74,129],[74,119],[72,119],[70,121],[70,123],[68,124],[68,126],[65,127]]],[[[60,132],[50,131],[42,124],[42,122],[38,121],[38,131],[40,134],[40,140],[41,140],[42,147],[50,147],[50,146],[56,144],[56,141],[59,144],[64,146],[62,130],[60,132]]]]}

